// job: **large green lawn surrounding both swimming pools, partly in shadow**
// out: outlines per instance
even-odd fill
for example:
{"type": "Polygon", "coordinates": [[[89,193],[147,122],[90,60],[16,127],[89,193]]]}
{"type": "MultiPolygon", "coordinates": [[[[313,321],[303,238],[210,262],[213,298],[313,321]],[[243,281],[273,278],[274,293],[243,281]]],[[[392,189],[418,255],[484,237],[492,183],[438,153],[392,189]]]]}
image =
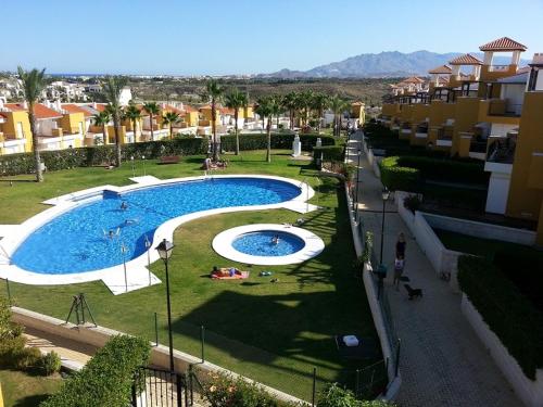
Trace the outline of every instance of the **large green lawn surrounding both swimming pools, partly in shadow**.
{"type": "MultiPolygon", "coordinates": [[[[345,364],[337,355],[333,335],[358,333],[376,336],[362,281],[353,277],[355,257],[344,192],[333,178],[315,177],[306,162],[291,161],[287,152],[275,152],[273,163],[264,152],[228,156],[230,174],[273,174],[307,179],[318,189],[312,202],[325,206],[304,216],[305,228],[326,243],[325,251],[301,265],[248,268],[225,260],[211,249],[222,230],[253,222],[292,222],[302,215],[285,211],[243,212],[210,216],[177,229],[171,263],[175,347],[200,356],[200,326],[205,326],[205,358],[252,379],[301,397],[311,395],[311,373],[317,368],[324,381],[348,380],[345,364]],[[212,281],[214,265],[251,270],[248,280],[212,281]],[[272,277],[258,277],[261,270],[272,277]]],[[[147,174],[161,178],[199,175],[203,157],[184,158],[181,164],[147,165],[147,174]]],[[[137,163],[142,174],[142,163],[137,163]]],[[[223,174],[223,173],[220,173],[223,174]]],[[[0,182],[10,211],[0,213],[0,224],[16,222],[43,208],[39,202],[59,193],[90,186],[128,183],[129,164],[108,171],[78,168],[49,174],[46,183],[0,182]]],[[[164,281],[164,266],[152,271],[164,281]]],[[[159,339],[167,343],[164,284],[113,296],[101,282],[77,285],[35,287],[10,283],[20,306],[65,318],[72,295],[84,292],[98,323],[154,340],[154,313],[159,314],[159,339]]],[[[375,360],[367,360],[372,363],[375,360]]],[[[349,377],[352,380],[353,376],[349,377]]]]}

